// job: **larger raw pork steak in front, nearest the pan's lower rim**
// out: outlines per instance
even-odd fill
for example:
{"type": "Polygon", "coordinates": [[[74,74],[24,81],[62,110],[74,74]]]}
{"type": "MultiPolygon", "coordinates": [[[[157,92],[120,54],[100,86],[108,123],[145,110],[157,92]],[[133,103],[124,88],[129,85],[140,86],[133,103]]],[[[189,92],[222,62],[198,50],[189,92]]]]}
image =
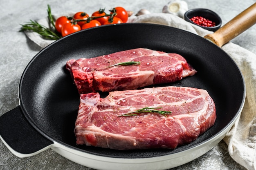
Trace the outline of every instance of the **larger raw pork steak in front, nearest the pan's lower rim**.
{"type": "Polygon", "coordinates": [[[176,148],[194,141],[216,120],[213,99],[206,90],[156,87],[141,90],[81,94],[75,124],[76,143],[117,150],[176,148]],[[162,107],[171,115],[139,113],[144,107],[162,107]]]}

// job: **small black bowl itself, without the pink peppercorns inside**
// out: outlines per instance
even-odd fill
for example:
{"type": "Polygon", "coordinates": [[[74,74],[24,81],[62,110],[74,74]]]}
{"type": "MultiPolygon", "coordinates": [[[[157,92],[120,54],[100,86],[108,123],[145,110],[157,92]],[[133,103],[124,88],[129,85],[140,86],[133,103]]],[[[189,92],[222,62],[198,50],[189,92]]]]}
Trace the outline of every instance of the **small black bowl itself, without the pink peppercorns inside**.
{"type": "MultiPolygon", "coordinates": [[[[193,21],[190,20],[194,16],[201,16],[203,18],[206,18],[206,19],[209,19],[209,20],[215,22],[216,26],[214,26],[214,27],[203,27],[203,26],[198,25],[199,27],[207,29],[209,31],[213,31],[213,32],[217,31],[222,24],[222,20],[221,20],[220,16],[217,13],[215,13],[209,9],[203,9],[203,8],[190,9],[189,11],[186,11],[186,13],[184,14],[184,19],[190,23],[195,24],[193,21]]],[[[197,25],[197,24],[195,24],[195,25],[197,25]]]]}

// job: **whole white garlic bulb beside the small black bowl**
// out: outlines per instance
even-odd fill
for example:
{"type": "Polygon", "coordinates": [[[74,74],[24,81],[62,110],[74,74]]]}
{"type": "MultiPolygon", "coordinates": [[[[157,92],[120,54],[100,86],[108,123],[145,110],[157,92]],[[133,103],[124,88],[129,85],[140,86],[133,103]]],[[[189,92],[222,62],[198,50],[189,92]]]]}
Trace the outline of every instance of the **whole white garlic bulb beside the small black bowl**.
{"type": "Polygon", "coordinates": [[[179,16],[180,18],[184,18],[184,13],[188,11],[188,4],[183,0],[173,0],[168,2],[163,7],[163,13],[172,13],[175,16],[179,16]]]}

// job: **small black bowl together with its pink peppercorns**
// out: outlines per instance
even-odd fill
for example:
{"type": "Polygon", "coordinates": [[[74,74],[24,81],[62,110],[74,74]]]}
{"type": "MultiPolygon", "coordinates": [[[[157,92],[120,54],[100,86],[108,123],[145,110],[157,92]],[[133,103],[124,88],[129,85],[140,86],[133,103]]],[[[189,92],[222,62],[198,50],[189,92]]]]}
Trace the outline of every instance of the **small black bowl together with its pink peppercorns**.
{"type": "Polygon", "coordinates": [[[222,24],[222,20],[217,13],[209,9],[202,8],[186,11],[184,19],[192,24],[213,32],[217,31],[222,24]]]}

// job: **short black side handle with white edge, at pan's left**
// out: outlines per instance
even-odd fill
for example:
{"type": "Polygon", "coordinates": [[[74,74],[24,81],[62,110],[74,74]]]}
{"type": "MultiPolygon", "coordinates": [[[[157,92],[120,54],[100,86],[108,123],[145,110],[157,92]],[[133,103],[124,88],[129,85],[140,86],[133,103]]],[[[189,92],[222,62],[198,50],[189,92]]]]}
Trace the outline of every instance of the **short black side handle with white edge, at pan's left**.
{"type": "Polygon", "coordinates": [[[20,105],[0,116],[0,138],[18,157],[30,157],[43,152],[53,144],[53,141],[45,138],[31,126],[20,105]]]}

